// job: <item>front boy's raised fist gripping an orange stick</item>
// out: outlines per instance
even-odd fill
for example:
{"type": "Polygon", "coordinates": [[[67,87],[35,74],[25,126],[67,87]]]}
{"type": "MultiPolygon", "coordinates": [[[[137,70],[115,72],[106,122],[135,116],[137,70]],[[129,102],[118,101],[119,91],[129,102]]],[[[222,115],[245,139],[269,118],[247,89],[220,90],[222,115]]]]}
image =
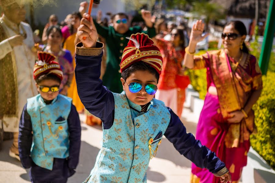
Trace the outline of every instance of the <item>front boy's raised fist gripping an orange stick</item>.
{"type": "Polygon", "coordinates": [[[98,37],[93,19],[90,18],[90,20],[87,20],[89,17],[90,15],[88,13],[84,13],[80,26],[77,29],[77,36],[86,48],[96,47],[98,37]]]}

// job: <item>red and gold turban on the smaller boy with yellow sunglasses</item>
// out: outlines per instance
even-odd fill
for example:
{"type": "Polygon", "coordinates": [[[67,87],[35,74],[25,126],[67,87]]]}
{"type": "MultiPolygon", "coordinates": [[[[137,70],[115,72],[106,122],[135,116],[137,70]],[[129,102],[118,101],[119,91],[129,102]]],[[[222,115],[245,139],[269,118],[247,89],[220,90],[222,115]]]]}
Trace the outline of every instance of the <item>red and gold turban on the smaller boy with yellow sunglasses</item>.
{"type": "Polygon", "coordinates": [[[36,61],[35,66],[33,67],[33,78],[36,80],[42,74],[52,73],[59,77],[61,80],[63,79],[63,72],[58,62],[55,62],[55,56],[39,51],[38,59],[36,61]]]}

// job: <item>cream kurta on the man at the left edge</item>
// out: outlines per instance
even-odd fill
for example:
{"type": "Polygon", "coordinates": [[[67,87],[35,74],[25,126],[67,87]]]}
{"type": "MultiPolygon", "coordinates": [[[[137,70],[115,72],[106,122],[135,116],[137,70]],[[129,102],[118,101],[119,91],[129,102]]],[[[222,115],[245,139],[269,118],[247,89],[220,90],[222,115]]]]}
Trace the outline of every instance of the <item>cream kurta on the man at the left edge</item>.
{"type": "MultiPolygon", "coordinates": [[[[1,25],[4,28],[7,37],[18,34],[16,33],[18,26],[9,21],[7,17],[3,15],[0,21],[2,21],[1,25]]],[[[33,66],[35,64],[35,55],[31,51],[31,47],[34,46],[32,30],[29,24],[21,22],[19,25],[19,31],[20,34],[27,34],[27,38],[24,39],[23,45],[12,48],[7,39],[0,42],[0,60],[7,54],[11,53],[13,63],[15,63],[14,73],[17,79],[18,90],[17,115],[11,117],[4,114],[2,119],[3,129],[5,132],[18,132],[20,116],[24,105],[27,103],[27,99],[38,93],[35,87],[35,81],[32,77],[33,66]]]]}

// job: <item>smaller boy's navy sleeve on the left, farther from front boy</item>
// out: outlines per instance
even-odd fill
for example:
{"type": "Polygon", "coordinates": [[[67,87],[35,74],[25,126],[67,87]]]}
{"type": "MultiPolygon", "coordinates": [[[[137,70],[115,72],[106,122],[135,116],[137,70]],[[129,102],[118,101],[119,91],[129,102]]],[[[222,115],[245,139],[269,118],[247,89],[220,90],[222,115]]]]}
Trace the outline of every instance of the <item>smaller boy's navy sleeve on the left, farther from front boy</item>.
{"type": "Polygon", "coordinates": [[[20,122],[18,135],[18,148],[20,161],[24,168],[30,168],[31,159],[31,144],[32,144],[32,126],[31,116],[27,112],[27,104],[24,106],[20,122]]]}

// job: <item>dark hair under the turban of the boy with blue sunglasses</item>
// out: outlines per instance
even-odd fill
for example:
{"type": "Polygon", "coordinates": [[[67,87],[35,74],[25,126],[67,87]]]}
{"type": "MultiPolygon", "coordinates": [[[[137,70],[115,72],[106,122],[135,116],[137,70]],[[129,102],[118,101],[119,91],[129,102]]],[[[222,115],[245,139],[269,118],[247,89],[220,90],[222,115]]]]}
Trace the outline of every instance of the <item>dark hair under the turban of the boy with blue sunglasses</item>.
{"type": "Polygon", "coordinates": [[[138,71],[138,70],[142,70],[142,71],[149,71],[150,73],[154,74],[156,76],[157,79],[157,83],[159,82],[160,79],[160,75],[159,73],[156,71],[156,69],[154,69],[153,67],[151,67],[150,65],[146,64],[145,62],[136,62],[132,65],[130,65],[130,67],[128,67],[127,69],[123,70],[121,73],[121,77],[126,81],[126,79],[134,72],[138,71]]]}

